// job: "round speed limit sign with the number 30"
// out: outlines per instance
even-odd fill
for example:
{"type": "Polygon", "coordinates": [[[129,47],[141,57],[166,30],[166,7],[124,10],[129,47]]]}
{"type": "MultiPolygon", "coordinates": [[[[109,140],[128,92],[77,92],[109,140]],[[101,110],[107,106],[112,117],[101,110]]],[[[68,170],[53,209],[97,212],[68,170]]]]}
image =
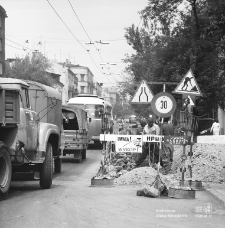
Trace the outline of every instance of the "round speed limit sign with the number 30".
{"type": "Polygon", "coordinates": [[[152,111],[159,117],[171,116],[177,107],[175,98],[170,93],[157,93],[151,102],[152,111]]]}

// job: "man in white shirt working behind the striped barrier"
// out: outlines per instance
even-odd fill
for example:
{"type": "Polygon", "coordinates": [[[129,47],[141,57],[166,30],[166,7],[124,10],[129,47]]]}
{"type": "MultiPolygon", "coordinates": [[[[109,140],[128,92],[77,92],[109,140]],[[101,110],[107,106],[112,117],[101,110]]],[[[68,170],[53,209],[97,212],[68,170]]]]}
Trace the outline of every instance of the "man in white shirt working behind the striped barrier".
{"type": "MultiPolygon", "coordinates": [[[[147,124],[144,127],[143,133],[147,135],[159,135],[160,128],[157,124],[154,123],[153,118],[148,119],[147,124]]],[[[155,161],[152,161],[152,162],[153,163],[158,162],[159,147],[157,146],[156,143],[146,143],[145,145],[143,145],[142,153],[140,154],[138,160],[136,161],[136,167],[139,167],[142,164],[142,162],[146,159],[146,157],[149,155],[149,146],[150,146],[150,151],[153,151],[154,158],[155,158],[155,161]]]]}

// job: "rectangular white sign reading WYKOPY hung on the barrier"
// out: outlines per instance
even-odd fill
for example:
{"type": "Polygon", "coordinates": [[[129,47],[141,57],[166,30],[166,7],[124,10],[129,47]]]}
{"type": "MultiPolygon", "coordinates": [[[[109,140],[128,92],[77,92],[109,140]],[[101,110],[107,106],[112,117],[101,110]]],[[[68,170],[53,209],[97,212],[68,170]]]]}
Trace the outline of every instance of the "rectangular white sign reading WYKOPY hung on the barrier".
{"type": "Polygon", "coordinates": [[[116,140],[117,153],[142,153],[142,136],[137,135],[117,135],[116,140]]]}

